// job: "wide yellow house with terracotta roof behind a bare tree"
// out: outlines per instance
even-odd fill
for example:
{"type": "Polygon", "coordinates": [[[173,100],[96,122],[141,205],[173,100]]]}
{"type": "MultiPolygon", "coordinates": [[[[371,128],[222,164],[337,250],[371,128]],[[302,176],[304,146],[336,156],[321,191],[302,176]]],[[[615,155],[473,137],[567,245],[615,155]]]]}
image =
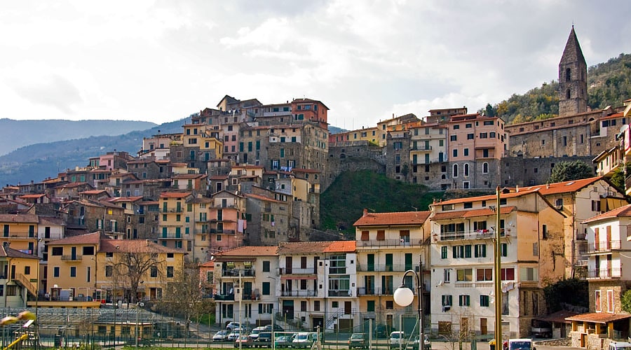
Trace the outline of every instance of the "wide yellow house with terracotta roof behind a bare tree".
{"type": "Polygon", "coordinates": [[[101,232],[51,241],[48,251],[47,300],[40,307],[159,299],[184,261],[178,249],[144,239],[109,239],[101,232]]]}

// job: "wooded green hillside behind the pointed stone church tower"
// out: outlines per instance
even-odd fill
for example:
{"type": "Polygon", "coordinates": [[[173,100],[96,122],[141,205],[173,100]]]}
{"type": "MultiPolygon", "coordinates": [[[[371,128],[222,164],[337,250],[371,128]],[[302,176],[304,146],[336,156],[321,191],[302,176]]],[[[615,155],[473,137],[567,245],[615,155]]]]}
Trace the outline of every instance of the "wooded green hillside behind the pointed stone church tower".
{"type": "MultiPolygon", "coordinates": [[[[631,98],[631,55],[609,59],[588,68],[588,106],[603,109],[621,106],[631,98]]],[[[508,124],[552,118],[559,113],[559,83],[543,83],[525,94],[513,94],[498,104],[480,110],[487,116],[499,116],[508,124]]]]}

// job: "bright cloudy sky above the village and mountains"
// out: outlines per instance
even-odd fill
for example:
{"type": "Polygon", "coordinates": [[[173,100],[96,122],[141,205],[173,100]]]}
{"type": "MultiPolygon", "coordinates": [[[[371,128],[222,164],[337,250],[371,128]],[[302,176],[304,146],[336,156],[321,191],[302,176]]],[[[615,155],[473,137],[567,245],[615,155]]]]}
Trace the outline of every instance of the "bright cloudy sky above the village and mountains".
{"type": "Polygon", "coordinates": [[[631,49],[631,1],[6,1],[0,118],[171,122],[307,97],[346,130],[470,113],[631,49]],[[625,39],[626,38],[626,39],[625,39]]]}

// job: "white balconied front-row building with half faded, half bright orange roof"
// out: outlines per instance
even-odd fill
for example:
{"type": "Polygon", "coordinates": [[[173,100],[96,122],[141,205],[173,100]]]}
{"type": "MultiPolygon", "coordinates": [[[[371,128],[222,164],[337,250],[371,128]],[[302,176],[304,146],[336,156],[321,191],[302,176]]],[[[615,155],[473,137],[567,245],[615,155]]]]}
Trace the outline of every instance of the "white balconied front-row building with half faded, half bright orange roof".
{"type": "Polygon", "coordinates": [[[354,241],[278,245],[276,296],[287,327],[352,330],[360,326],[354,241]]]}

